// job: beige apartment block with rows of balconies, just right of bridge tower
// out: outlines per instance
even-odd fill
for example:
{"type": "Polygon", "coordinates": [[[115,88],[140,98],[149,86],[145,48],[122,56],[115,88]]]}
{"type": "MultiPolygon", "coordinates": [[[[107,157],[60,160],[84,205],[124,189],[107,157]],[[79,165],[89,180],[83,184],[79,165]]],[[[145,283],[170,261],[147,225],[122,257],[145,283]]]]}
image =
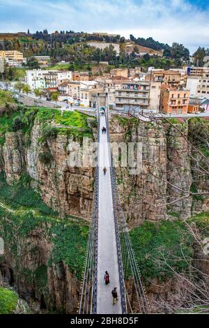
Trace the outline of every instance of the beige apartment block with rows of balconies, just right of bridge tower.
{"type": "Polygon", "coordinates": [[[116,109],[128,111],[150,110],[158,112],[160,107],[159,82],[125,82],[116,89],[116,109]]]}

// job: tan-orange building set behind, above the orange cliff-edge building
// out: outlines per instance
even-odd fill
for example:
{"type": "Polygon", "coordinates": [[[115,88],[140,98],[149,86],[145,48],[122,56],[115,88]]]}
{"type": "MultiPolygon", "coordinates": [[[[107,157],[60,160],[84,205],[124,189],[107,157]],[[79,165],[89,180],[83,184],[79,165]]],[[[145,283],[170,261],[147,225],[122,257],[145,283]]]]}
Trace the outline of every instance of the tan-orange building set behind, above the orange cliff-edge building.
{"type": "Polygon", "coordinates": [[[145,75],[146,81],[161,82],[167,87],[180,87],[183,83],[183,78],[178,70],[158,70],[151,69],[145,75]]]}

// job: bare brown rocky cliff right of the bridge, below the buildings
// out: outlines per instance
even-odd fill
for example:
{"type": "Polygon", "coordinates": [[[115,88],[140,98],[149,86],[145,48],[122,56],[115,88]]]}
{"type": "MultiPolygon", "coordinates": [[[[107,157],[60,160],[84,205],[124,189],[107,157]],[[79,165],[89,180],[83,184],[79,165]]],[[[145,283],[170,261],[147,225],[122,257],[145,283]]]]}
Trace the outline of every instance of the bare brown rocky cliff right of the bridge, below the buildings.
{"type": "Polygon", "coordinates": [[[202,201],[191,196],[181,199],[192,184],[196,190],[208,191],[208,179],[193,182],[194,165],[188,142],[192,124],[139,123],[136,119],[112,117],[109,128],[112,142],[141,144],[139,174],[129,174],[129,166],[116,167],[121,202],[130,227],[146,220],[185,219],[192,212],[209,210],[208,197],[202,201]]]}

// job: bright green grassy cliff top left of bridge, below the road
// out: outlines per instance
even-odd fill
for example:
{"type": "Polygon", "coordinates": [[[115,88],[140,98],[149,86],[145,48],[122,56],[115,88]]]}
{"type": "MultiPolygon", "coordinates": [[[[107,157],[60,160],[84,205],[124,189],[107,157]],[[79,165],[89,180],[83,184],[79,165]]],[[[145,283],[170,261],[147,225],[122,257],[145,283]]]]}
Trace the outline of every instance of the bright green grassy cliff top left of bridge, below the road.
{"type": "MultiPolygon", "coordinates": [[[[57,134],[75,137],[93,137],[88,125],[88,115],[80,112],[63,112],[47,107],[27,107],[17,105],[8,91],[0,91],[0,144],[4,144],[6,133],[22,131],[29,135],[34,121],[37,119],[42,126],[51,126],[57,134]],[[53,126],[55,124],[56,126],[53,126]],[[59,128],[61,126],[61,128],[59,128]]],[[[91,117],[91,121],[95,121],[91,117]]]]}

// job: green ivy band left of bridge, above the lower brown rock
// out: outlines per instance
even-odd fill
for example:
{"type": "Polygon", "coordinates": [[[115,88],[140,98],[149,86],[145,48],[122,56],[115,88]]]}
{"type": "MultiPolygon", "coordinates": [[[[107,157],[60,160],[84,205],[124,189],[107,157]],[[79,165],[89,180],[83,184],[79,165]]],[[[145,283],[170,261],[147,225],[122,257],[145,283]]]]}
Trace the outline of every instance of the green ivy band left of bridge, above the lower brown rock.
{"type": "Polygon", "coordinates": [[[39,228],[53,242],[49,266],[52,262],[63,261],[72,274],[82,279],[88,225],[72,216],[59,218],[59,214],[47,207],[40,195],[29,187],[28,181],[29,177],[24,176],[16,185],[9,186],[3,172],[0,174],[0,236],[5,247],[17,256],[17,239],[24,240],[39,228]]]}

